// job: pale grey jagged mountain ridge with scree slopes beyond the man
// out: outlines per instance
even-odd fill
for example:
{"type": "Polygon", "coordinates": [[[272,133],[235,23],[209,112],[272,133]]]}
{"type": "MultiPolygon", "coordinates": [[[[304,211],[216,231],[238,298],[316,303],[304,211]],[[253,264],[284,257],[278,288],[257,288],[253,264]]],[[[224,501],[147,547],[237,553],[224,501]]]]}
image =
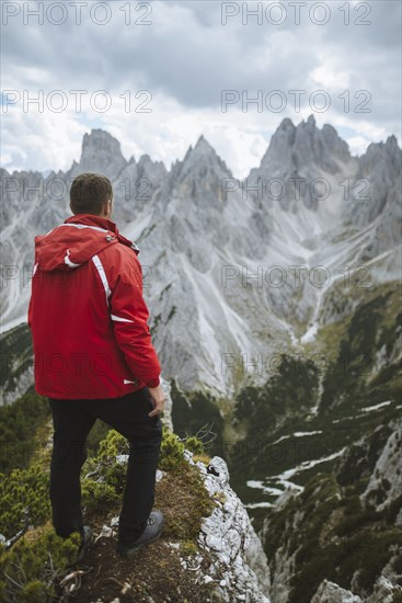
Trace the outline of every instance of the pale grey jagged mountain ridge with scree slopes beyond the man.
{"type": "Polygon", "coordinates": [[[116,138],[94,129],[83,137],[80,162],[65,174],[49,174],[43,193],[26,192],[36,173],[14,172],[10,181],[1,172],[3,329],[26,316],[34,236],[70,214],[68,183],[78,173],[104,171],[114,185],[113,219],[140,241],[151,327],[166,377],[185,389],[233,391],[250,380],[244,354],[300,351],[303,337],[314,337],[329,319],[322,310],[345,266],[349,274],[368,270],[372,283],[399,277],[401,157],[394,136],[357,159],[331,125],[319,129],[312,115],[297,126],[284,118],[244,187],[204,136],[168,171],[148,156],[127,161],[116,138]],[[359,178],[371,180],[375,197],[368,202],[354,198],[359,178]],[[269,198],[269,179],[279,180],[280,198],[275,190],[269,198]],[[302,184],[299,196],[291,179],[302,184]],[[252,190],[256,182],[264,184],[263,198],[252,190]],[[314,182],[323,189],[317,192],[314,182]],[[30,243],[21,244],[26,237],[30,243]],[[325,274],[330,280],[322,286],[325,274]],[[183,316],[192,317],[191,329],[183,316]],[[230,371],[228,357],[236,365],[230,371]]]}

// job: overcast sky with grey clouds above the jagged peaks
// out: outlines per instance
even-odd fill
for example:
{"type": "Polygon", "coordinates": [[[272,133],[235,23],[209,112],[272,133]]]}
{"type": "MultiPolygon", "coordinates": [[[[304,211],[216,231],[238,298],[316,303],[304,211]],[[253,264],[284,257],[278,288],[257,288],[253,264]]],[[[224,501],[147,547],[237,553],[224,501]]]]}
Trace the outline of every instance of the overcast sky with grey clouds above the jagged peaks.
{"type": "Polygon", "coordinates": [[[67,170],[102,127],[166,168],[204,134],[245,177],[282,120],[311,114],[353,155],[401,145],[401,5],[4,0],[1,164],[67,170]]]}

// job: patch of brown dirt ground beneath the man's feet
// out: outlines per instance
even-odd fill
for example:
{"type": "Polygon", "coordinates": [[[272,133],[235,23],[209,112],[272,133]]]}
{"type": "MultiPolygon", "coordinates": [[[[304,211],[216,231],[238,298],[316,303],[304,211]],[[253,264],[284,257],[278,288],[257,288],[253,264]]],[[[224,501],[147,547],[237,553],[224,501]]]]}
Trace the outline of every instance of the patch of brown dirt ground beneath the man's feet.
{"type": "Polygon", "coordinates": [[[186,526],[188,530],[192,526],[192,511],[196,502],[194,492],[183,486],[180,477],[170,475],[156,485],[154,509],[162,510],[165,516],[162,536],[129,558],[116,550],[117,528],[111,537],[96,539],[102,526],[110,526],[112,517],[118,515],[118,507],[103,517],[87,517],[85,523],[92,526],[96,542],[82,562],[71,568],[71,573],[76,572],[76,576],[69,584],[73,584],[74,589],[61,601],[111,603],[116,598],[119,603],[211,601],[210,588],[199,581],[199,573],[208,573],[210,558],[205,551],[199,551],[203,560],[197,562],[196,556],[184,556],[177,546],[186,536],[186,526]],[[181,565],[183,557],[188,562],[187,568],[181,565]],[[78,574],[77,570],[82,573],[78,574]]]}

